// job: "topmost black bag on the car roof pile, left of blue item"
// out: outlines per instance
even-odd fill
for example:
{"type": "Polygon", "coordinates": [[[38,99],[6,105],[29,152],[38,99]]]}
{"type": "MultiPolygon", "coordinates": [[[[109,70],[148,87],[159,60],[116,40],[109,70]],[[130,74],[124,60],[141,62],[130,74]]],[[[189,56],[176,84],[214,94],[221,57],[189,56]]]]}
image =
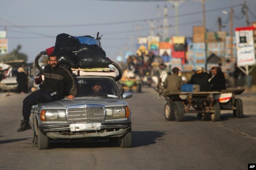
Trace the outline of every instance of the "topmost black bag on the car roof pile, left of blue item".
{"type": "Polygon", "coordinates": [[[56,37],[53,53],[57,54],[65,50],[76,51],[79,45],[80,45],[80,41],[77,38],[69,34],[62,33],[57,35],[56,37]]]}

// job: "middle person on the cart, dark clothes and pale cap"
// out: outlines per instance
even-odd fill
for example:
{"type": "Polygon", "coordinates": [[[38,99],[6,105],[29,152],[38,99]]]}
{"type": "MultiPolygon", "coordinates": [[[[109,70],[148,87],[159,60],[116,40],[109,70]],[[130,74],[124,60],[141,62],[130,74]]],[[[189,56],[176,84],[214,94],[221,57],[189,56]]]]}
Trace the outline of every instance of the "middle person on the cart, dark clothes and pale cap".
{"type": "Polygon", "coordinates": [[[203,67],[198,66],[196,73],[191,76],[191,79],[187,84],[198,84],[200,86],[200,91],[210,91],[210,85],[208,79],[210,79],[210,74],[203,72],[203,67]]]}

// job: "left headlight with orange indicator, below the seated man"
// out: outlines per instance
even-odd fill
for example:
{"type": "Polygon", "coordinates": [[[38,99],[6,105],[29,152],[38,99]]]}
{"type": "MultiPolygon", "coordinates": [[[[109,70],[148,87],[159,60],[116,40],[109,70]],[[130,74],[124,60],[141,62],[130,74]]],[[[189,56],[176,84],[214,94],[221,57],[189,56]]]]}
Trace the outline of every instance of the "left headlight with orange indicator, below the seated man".
{"type": "Polygon", "coordinates": [[[42,110],[41,121],[67,121],[66,110],[42,110]]]}

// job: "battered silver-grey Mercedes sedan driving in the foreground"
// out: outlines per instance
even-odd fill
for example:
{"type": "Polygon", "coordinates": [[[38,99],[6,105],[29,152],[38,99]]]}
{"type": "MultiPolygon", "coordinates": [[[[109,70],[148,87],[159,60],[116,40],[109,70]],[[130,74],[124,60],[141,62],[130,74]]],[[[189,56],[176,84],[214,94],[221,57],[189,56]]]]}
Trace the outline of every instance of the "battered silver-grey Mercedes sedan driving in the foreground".
{"type": "Polygon", "coordinates": [[[32,106],[30,125],[33,143],[47,149],[50,140],[106,140],[132,146],[131,110],[124,99],[132,92],[119,91],[115,79],[108,76],[74,76],[78,95],[32,106]],[[92,95],[100,82],[107,96],[92,95]]]}

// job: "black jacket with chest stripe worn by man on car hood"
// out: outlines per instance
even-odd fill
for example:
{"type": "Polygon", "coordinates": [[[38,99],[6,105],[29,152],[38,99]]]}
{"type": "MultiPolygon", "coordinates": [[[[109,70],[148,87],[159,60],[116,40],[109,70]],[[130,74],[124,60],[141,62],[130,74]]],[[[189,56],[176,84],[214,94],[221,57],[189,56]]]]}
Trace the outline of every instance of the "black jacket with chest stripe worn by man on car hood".
{"type": "Polygon", "coordinates": [[[67,95],[76,96],[76,82],[70,71],[66,68],[58,65],[52,68],[48,64],[44,68],[44,77],[42,90],[56,91],[62,98],[67,95]]]}

